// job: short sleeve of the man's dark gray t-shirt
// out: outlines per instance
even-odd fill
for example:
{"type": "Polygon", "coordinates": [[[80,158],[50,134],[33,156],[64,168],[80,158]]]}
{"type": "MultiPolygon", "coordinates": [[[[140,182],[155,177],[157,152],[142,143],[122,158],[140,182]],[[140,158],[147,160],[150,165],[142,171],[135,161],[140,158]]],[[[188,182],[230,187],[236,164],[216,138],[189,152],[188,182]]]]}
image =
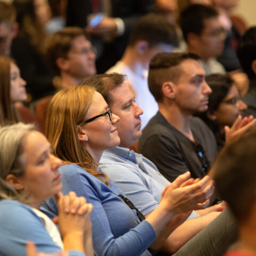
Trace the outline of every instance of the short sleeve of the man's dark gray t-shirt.
{"type": "Polygon", "coordinates": [[[159,172],[171,182],[180,174],[188,171],[179,148],[175,147],[175,143],[164,135],[151,135],[143,144],[141,153],[152,161],[159,172]]]}

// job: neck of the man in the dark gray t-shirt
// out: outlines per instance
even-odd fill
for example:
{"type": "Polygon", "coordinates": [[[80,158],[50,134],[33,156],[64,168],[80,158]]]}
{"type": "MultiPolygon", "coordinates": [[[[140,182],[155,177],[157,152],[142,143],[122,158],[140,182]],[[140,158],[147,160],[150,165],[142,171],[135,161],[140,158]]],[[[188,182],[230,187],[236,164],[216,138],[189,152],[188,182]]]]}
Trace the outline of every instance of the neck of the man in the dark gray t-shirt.
{"type": "Polygon", "coordinates": [[[158,103],[158,108],[159,112],[169,124],[183,133],[191,141],[195,141],[189,123],[191,113],[182,112],[173,102],[167,104],[158,103]]]}

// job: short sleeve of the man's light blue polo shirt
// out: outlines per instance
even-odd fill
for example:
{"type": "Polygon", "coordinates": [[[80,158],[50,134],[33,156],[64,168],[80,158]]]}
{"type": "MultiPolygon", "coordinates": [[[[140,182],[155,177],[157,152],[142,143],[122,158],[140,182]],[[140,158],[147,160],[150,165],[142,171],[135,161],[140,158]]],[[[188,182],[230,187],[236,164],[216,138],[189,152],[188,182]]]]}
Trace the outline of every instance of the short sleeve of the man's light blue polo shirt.
{"type": "Polygon", "coordinates": [[[106,163],[100,164],[100,168],[144,215],[156,209],[158,203],[133,166],[106,163]]]}

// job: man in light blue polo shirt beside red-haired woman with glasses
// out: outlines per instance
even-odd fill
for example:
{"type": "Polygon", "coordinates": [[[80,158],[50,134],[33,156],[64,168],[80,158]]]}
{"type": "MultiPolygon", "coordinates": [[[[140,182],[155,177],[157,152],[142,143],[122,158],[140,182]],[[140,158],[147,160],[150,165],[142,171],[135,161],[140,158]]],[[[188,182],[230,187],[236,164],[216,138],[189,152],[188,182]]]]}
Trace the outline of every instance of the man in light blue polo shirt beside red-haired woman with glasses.
{"type": "MultiPolygon", "coordinates": [[[[142,134],[140,115],[143,111],[135,103],[134,94],[124,79],[123,75],[115,73],[102,74],[86,78],[83,84],[95,86],[111,111],[120,117],[117,130],[121,144],[106,150],[99,166],[134,205],[148,215],[157,207],[162,190],[170,182],[158,172],[151,161],[127,148],[142,134]]],[[[198,211],[201,217],[193,212],[193,219],[185,221],[169,236],[162,247],[163,251],[174,253],[184,245],[178,255],[222,255],[236,238],[235,225],[229,212],[217,212],[222,207],[223,205],[218,205],[198,211]],[[220,216],[215,218],[218,215],[220,216]],[[209,226],[206,227],[207,225],[209,226]],[[202,229],[204,230],[196,235],[202,229]]]]}

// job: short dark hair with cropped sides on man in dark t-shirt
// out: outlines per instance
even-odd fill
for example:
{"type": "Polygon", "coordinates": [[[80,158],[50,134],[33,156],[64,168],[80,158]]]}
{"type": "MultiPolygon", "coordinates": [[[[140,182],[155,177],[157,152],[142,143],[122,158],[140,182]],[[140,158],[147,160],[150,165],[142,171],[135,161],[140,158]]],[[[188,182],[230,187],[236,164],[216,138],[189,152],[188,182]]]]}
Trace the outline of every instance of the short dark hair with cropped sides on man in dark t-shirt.
{"type": "Polygon", "coordinates": [[[184,60],[199,60],[194,53],[162,52],[156,54],[150,61],[148,73],[149,91],[157,102],[163,100],[162,85],[164,82],[177,82],[182,74],[179,65],[184,60]]]}

